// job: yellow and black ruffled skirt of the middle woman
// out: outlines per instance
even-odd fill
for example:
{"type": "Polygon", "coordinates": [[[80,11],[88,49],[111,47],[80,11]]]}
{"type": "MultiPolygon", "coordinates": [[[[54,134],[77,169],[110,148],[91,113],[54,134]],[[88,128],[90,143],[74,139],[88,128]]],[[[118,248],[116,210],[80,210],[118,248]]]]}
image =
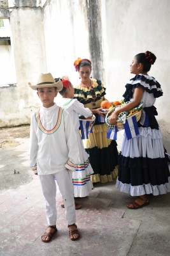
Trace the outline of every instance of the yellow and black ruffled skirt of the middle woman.
{"type": "Polygon", "coordinates": [[[94,125],[88,140],[83,140],[85,150],[89,154],[94,174],[90,176],[93,183],[111,182],[116,179],[118,169],[117,142],[107,139],[108,126],[94,125]]]}

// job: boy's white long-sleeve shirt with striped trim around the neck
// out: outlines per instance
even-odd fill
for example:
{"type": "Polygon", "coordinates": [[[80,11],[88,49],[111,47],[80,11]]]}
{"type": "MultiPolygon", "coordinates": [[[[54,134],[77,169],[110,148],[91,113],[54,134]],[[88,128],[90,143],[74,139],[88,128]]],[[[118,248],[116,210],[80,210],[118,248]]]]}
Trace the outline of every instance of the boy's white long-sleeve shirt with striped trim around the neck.
{"type": "Polygon", "coordinates": [[[31,116],[29,160],[39,175],[74,170],[80,163],[73,122],[65,109],[54,104],[31,116]]]}

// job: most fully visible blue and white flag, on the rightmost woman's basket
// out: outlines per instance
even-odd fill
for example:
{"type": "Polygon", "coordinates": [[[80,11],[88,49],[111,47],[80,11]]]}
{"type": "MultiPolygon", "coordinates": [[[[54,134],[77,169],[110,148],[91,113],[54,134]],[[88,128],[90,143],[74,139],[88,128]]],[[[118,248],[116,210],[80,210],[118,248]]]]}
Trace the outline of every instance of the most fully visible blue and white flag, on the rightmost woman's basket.
{"type": "Polygon", "coordinates": [[[136,121],[136,115],[131,116],[125,120],[124,124],[125,134],[127,140],[131,140],[139,134],[138,124],[136,121]]]}

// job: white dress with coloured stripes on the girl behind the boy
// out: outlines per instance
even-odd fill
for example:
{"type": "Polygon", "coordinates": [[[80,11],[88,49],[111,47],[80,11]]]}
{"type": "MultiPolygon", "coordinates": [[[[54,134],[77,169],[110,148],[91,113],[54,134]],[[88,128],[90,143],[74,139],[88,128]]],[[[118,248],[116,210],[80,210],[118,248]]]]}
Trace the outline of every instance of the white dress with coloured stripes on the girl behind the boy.
{"type": "MultiPolygon", "coordinates": [[[[92,115],[89,108],[85,108],[83,104],[78,102],[76,99],[62,98],[62,108],[66,109],[71,120],[73,120],[74,129],[77,135],[77,141],[80,151],[80,161],[78,167],[73,171],[73,185],[74,185],[74,197],[85,197],[94,188],[92,181],[90,180],[90,175],[94,173],[92,166],[89,162],[89,155],[83,147],[83,142],[81,140],[79,127],[79,116],[83,115],[86,118],[92,115]]],[[[71,131],[70,131],[71,132],[71,131]]]]}

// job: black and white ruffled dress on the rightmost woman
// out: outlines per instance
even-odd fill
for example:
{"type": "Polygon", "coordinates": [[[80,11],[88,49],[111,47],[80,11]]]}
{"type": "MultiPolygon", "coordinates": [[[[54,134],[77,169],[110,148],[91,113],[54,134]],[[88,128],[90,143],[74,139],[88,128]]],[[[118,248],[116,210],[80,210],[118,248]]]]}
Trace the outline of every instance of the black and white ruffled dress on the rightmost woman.
{"type": "Polygon", "coordinates": [[[124,100],[131,100],[134,89],[144,89],[143,122],[139,120],[139,135],[127,140],[124,134],[119,155],[116,187],[132,196],[145,194],[162,195],[170,192],[170,174],[162,143],[162,133],[155,118],[156,98],[163,95],[160,84],[154,77],[136,75],[126,84],[124,100]],[[147,120],[147,122],[145,122],[147,120]]]}

